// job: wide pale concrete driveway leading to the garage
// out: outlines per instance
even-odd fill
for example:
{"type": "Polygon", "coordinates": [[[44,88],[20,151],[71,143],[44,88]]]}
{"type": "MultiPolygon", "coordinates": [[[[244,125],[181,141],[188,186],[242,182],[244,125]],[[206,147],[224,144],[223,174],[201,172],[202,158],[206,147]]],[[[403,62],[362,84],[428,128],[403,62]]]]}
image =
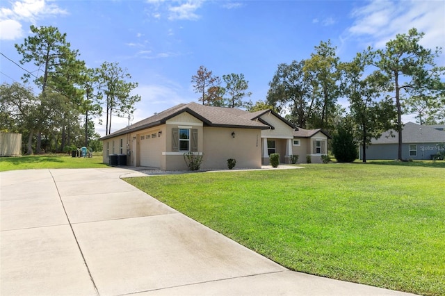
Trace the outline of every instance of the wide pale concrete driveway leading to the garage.
{"type": "Polygon", "coordinates": [[[291,272],[122,181],[0,173],[0,295],[407,295],[291,272]]]}

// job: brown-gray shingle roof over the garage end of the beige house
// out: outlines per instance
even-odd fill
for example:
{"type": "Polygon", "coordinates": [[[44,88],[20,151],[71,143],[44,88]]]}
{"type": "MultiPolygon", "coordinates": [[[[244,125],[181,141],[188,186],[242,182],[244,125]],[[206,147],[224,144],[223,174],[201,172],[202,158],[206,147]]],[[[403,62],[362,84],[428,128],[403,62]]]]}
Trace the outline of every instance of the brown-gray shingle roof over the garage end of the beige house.
{"type": "Polygon", "coordinates": [[[266,124],[252,121],[243,116],[245,115],[245,113],[249,113],[247,111],[234,108],[204,106],[195,102],[191,102],[188,104],[179,104],[172,108],[168,108],[167,110],[148,117],[145,120],[141,120],[140,122],[131,124],[131,126],[129,127],[106,135],[100,140],[106,140],[108,138],[123,135],[125,133],[140,131],[152,126],[165,124],[167,120],[183,112],[190,113],[191,115],[197,117],[197,119],[204,122],[204,126],[237,127],[244,129],[269,129],[269,126],[267,126],[266,124]]]}

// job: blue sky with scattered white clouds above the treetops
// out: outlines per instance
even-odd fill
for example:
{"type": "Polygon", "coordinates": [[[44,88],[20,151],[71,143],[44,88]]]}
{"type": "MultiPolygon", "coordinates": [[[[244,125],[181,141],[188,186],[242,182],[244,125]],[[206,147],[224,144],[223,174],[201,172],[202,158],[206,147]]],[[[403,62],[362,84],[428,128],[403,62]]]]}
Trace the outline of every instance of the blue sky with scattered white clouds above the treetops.
{"type": "MultiPolygon", "coordinates": [[[[127,68],[142,97],[133,123],[197,101],[191,76],[200,65],[217,76],[244,74],[257,101],[266,99],[278,64],[309,58],[321,41],[331,40],[344,61],[412,27],[426,33],[424,46],[445,47],[445,1],[1,1],[1,53],[18,62],[14,44],[31,24],[67,33],[88,67],[127,68]]],[[[437,63],[445,65],[445,56],[437,63]]],[[[1,83],[23,74],[4,56],[0,72],[1,83]]],[[[112,131],[126,125],[113,117],[112,131]]],[[[96,130],[104,135],[104,126],[96,130]]]]}

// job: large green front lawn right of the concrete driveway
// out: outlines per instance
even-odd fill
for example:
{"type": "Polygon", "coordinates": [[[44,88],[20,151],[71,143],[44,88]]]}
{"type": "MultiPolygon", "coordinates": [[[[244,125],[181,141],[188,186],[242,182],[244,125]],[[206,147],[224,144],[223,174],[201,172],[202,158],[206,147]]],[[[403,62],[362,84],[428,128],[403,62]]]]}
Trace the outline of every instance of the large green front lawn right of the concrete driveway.
{"type": "Polygon", "coordinates": [[[291,270],[445,295],[445,170],[337,164],[126,179],[291,270]]]}

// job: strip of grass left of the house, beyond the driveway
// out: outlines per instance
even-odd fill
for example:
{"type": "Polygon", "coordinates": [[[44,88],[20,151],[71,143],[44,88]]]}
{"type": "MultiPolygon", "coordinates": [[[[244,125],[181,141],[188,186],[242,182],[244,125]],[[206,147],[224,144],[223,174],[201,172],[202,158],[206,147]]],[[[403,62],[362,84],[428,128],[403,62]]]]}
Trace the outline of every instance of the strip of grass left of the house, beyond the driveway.
{"type": "Polygon", "coordinates": [[[108,167],[101,156],[72,157],[67,154],[43,154],[17,157],[0,157],[0,172],[29,169],[58,169],[108,167]]]}

